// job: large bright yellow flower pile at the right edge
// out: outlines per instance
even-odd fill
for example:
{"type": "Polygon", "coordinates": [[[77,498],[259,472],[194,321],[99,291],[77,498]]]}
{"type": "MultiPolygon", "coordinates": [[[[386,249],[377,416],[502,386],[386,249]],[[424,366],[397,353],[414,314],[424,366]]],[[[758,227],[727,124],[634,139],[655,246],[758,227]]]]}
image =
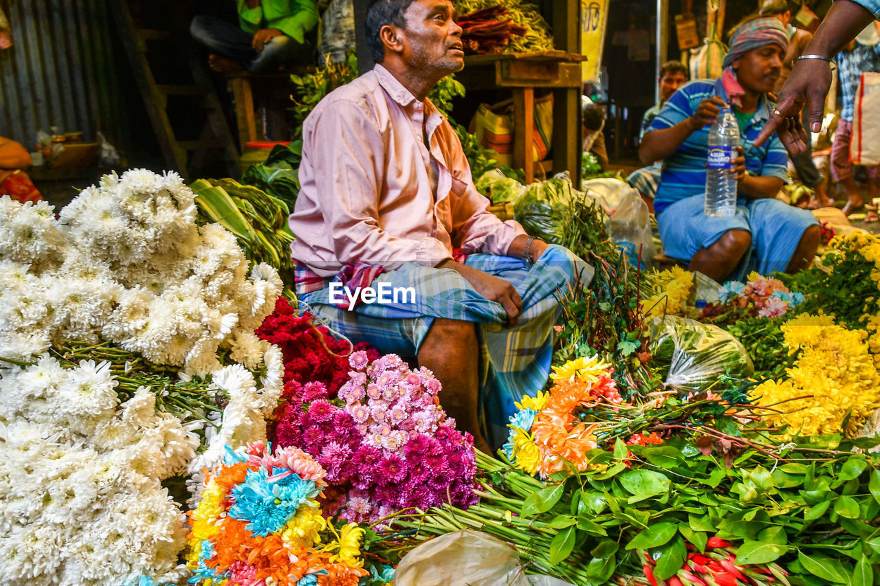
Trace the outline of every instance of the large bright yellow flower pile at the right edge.
{"type": "Polygon", "coordinates": [[[847,330],[831,316],[804,313],[783,326],[790,354],[800,352],[788,378],[754,387],[752,398],[765,407],[764,421],[788,426],[788,435],[841,431],[853,436],[880,407],[880,374],[864,330],[847,330]],[[848,417],[847,429],[841,429],[848,417]]]}

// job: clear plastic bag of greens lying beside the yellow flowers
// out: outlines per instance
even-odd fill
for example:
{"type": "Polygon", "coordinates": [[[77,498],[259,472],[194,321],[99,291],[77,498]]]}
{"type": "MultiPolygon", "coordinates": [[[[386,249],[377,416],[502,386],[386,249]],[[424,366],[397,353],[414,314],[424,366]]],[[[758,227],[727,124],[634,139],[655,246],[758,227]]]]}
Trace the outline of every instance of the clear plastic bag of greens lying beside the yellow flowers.
{"type": "Polygon", "coordinates": [[[651,355],[678,392],[706,391],[718,377],[751,377],[755,372],[744,346],[718,326],[666,316],[651,326],[651,355]]]}

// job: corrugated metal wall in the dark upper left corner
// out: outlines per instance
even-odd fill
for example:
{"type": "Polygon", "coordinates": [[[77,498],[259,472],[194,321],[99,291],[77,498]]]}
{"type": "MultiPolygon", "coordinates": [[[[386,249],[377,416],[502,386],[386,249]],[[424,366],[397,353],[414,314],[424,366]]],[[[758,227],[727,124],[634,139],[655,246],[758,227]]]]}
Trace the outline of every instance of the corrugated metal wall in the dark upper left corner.
{"type": "Polygon", "coordinates": [[[14,42],[0,50],[0,136],[30,148],[55,126],[93,140],[125,120],[106,4],[118,1],[0,0],[14,42]]]}

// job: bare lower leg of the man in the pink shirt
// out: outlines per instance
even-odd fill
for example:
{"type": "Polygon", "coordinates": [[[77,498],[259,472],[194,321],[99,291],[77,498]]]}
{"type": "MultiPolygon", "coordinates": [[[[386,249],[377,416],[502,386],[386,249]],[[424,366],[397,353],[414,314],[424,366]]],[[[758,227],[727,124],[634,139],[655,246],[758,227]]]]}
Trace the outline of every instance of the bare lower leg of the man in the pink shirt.
{"type": "Polygon", "coordinates": [[[419,348],[419,366],[434,372],[443,385],[440,405],[461,431],[473,435],[477,449],[492,453],[480,432],[480,345],[476,325],[456,319],[434,319],[419,348]]]}

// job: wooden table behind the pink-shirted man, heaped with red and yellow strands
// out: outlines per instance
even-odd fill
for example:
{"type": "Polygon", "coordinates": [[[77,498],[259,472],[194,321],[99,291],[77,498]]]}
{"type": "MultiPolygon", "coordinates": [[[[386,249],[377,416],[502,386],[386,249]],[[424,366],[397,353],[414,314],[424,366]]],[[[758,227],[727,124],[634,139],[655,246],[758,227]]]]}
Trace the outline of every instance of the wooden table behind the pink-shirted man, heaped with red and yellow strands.
{"type": "Polygon", "coordinates": [[[465,87],[510,88],[514,107],[513,166],[523,169],[525,182],[534,180],[534,165],[545,171],[571,173],[581,168],[581,62],[585,55],[561,50],[534,53],[468,55],[456,74],[465,87]],[[535,88],[554,90],[553,160],[532,164],[535,88]]]}

